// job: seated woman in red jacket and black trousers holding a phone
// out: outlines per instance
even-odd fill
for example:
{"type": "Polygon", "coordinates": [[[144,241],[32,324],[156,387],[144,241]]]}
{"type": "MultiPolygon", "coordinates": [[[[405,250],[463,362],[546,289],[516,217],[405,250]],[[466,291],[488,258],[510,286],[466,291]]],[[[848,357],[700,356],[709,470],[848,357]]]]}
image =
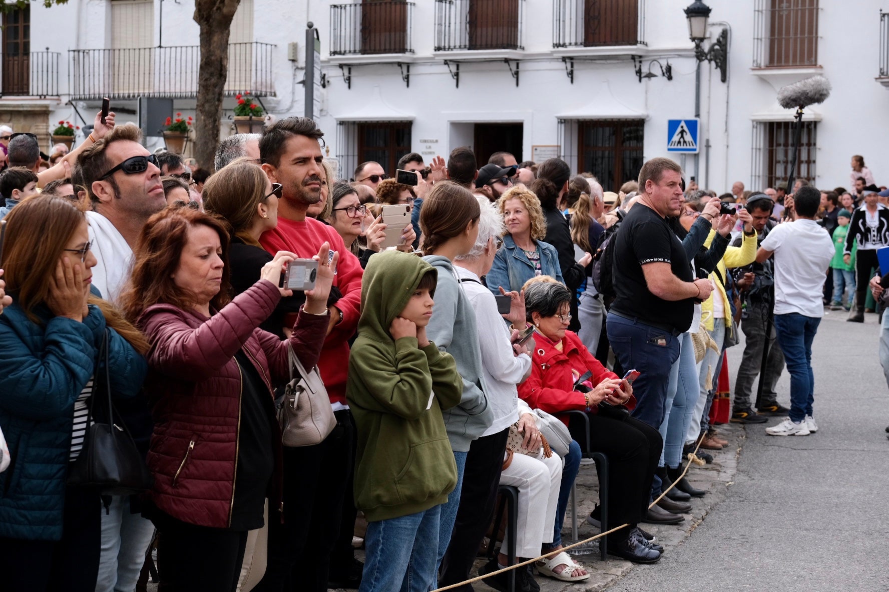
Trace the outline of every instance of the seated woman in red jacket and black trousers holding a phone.
{"type": "MultiPolygon", "coordinates": [[[[659,545],[647,541],[637,527],[648,510],[654,470],[661,457],[661,434],[626,413],[635,407],[633,387],[605,369],[584,347],[580,337],[567,330],[572,294],[550,278],[525,284],[525,313],[533,323],[534,351],[531,377],[518,387],[530,407],[551,414],[585,411],[589,452],[608,456],[609,517],[612,525],[626,524],[608,535],[608,553],[639,564],[661,558],[659,545]]],[[[585,427],[584,427],[585,429],[585,427]]]]}

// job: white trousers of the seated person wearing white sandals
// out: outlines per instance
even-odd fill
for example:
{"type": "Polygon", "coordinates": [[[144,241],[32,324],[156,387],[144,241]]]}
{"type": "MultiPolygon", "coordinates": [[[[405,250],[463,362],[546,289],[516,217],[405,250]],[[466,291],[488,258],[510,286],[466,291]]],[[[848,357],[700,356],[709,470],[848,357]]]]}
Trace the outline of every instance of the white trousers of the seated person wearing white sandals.
{"type": "MultiPolygon", "coordinates": [[[[543,543],[553,541],[563,465],[558,454],[546,458],[541,449],[537,456],[513,454],[509,467],[501,472],[501,485],[518,488],[517,557],[536,557],[543,543]]],[[[508,555],[508,549],[509,525],[501,552],[508,555]]]]}

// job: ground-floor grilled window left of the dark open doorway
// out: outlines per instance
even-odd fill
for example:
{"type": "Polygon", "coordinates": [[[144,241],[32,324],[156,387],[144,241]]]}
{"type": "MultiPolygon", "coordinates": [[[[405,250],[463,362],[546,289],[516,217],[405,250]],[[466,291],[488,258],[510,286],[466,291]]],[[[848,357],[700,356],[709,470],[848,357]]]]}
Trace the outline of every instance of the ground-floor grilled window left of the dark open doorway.
{"type": "Polygon", "coordinates": [[[340,178],[351,178],[361,162],[379,162],[394,177],[398,159],[411,152],[412,122],[340,122],[337,161],[340,178]]]}

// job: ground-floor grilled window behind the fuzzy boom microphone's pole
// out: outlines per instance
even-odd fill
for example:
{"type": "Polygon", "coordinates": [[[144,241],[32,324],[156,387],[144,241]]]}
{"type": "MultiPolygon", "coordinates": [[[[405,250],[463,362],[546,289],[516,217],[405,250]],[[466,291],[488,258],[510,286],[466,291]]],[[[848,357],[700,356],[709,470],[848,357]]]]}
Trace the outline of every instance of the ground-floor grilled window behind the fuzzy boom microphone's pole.
{"type": "MultiPolygon", "coordinates": [[[[762,191],[787,181],[796,122],[754,122],[750,189],[762,191]]],[[[795,178],[815,183],[818,122],[803,122],[795,178]]]]}

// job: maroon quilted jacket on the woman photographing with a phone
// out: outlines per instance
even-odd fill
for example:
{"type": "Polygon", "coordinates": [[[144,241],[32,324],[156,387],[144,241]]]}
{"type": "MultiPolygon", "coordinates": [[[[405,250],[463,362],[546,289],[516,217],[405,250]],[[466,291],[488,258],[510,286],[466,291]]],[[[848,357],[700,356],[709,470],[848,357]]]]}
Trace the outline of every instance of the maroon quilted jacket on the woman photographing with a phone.
{"type": "MultiPolygon", "coordinates": [[[[288,343],[304,367],[316,365],[328,315],[300,311],[293,335],[284,341],[257,328],[280,297],[272,282],[260,280],[210,319],[170,304],[150,306],[140,317],[151,343],[145,390],[155,420],[148,451],[155,485],[149,495],[172,517],[213,528],[230,525],[242,388],[236,352],[244,349],[268,384],[269,397],[289,379],[288,343]]],[[[280,435],[276,442],[274,482],[280,484],[280,435]]],[[[279,487],[273,493],[278,499],[279,487]]]]}

